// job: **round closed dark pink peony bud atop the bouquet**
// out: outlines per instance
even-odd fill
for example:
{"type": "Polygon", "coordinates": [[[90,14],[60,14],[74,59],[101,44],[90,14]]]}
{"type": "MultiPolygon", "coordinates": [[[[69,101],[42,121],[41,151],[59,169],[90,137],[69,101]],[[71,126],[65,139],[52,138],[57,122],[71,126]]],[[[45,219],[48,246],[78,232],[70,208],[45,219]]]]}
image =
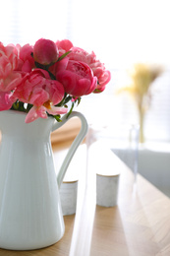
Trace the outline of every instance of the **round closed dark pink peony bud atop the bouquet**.
{"type": "Polygon", "coordinates": [[[35,62],[49,65],[57,61],[59,56],[57,45],[48,39],[39,39],[33,47],[33,58],[35,62]]]}

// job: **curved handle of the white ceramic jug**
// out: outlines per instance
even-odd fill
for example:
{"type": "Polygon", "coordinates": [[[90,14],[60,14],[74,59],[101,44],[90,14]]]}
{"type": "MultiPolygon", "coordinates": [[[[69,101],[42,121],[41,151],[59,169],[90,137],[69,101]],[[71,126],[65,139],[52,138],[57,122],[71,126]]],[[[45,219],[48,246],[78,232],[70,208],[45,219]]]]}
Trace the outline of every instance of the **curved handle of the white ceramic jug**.
{"type": "Polygon", "coordinates": [[[54,131],[54,130],[60,128],[61,126],[63,126],[69,119],[71,119],[72,117],[75,117],[75,116],[77,116],[81,119],[82,127],[81,127],[81,130],[80,130],[79,134],[77,135],[77,137],[73,141],[73,143],[72,143],[72,145],[71,145],[71,147],[70,147],[70,149],[69,149],[69,151],[68,151],[68,153],[65,157],[65,160],[63,161],[63,163],[61,165],[61,168],[60,168],[59,173],[57,175],[58,187],[60,187],[60,185],[63,181],[64,175],[66,173],[66,170],[69,166],[70,161],[72,160],[75,152],[77,151],[78,147],[80,146],[80,144],[82,143],[82,141],[85,138],[85,135],[87,133],[88,125],[87,125],[85,116],[82,113],[77,112],[77,111],[73,111],[68,117],[67,117],[67,115],[64,115],[64,117],[62,118],[62,122],[54,123],[54,125],[52,127],[52,131],[54,131]]]}

